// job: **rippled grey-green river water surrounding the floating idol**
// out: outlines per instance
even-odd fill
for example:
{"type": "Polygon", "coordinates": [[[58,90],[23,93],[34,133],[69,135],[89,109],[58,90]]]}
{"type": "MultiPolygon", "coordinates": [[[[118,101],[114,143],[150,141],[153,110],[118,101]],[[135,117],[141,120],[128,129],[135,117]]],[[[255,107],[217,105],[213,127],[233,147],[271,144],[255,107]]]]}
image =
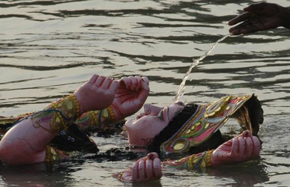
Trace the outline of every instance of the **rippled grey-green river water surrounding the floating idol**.
{"type": "MultiPolygon", "coordinates": [[[[93,74],[147,76],[147,103],[167,105],[192,59],[227,35],[227,22],[254,2],[1,1],[0,115],[42,109],[93,74]]],[[[264,144],[254,162],[200,172],[167,170],[160,181],[145,184],[110,177],[133,161],[62,162],[50,171],[41,165],[2,167],[0,186],[290,186],[289,45],[290,31],[283,28],[227,37],[192,69],[180,98],[203,103],[258,95],[264,144]]],[[[115,136],[94,140],[101,151],[126,145],[115,136]]]]}

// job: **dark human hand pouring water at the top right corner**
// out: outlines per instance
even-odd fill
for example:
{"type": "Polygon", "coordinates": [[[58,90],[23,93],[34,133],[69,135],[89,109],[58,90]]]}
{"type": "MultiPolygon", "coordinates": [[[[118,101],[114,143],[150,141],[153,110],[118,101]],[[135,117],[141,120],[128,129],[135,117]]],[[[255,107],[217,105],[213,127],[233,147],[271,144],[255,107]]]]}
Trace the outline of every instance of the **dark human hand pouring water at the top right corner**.
{"type": "MultiPolygon", "coordinates": [[[[232,35],[248,34],[257,31],[275,29],[282,26],[287,8],[273,3],[255,3],[243,9],[244,13],[231,19],[228,24],[238,26],[230,28],[232,35]]],[[[289,19],[289,17],[287,18],[289,19]]]]}

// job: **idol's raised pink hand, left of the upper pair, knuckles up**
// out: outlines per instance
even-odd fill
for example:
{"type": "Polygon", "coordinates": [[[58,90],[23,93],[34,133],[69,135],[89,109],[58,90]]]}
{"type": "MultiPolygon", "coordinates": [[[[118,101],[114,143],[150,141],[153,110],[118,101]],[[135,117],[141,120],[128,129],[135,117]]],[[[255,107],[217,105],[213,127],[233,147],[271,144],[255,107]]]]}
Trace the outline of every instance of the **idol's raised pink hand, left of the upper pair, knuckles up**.
{"type": "Polygon", "coordinates": [[[81,113],[110,106],[118,87],[118,81],[104,76],[93,75],[88,82],[74,92],[80,104],[81,113]]]}

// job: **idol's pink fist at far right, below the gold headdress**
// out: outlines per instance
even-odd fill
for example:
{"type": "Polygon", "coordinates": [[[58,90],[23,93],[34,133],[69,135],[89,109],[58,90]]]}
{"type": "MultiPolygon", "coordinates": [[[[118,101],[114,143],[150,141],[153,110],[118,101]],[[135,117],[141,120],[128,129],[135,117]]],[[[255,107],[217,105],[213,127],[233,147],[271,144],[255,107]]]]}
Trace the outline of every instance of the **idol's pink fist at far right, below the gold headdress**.
{"type": "Polygon", "coordinates": [[[250,131],[243,131],[242,134],[230,139],[213,151],[211,165],[229,165],[244,162],[259,155],[261,144],[256,136],[250,131]]]}

